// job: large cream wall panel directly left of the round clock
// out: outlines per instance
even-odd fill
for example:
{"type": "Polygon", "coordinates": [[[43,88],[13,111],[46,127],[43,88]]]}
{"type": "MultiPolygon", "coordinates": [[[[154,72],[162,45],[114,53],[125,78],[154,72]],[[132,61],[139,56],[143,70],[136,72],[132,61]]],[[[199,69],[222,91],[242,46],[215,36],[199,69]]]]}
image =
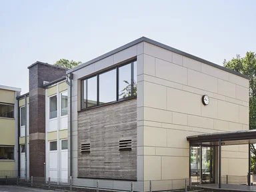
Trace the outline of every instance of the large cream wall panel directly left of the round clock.
{"type": "Polygon", "coordinates": [[[201,95],[168,88],[167,109],[180,113],[201,115],[201,95]]]}

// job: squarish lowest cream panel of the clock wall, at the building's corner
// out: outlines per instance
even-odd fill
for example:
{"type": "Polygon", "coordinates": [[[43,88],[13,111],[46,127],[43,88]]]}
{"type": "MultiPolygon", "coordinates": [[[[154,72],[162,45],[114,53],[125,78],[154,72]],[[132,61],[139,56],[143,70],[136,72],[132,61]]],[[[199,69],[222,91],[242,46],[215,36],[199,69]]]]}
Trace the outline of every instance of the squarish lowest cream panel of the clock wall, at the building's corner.
{"type": "Polygon", "coordinates": [[[161,179],[161,157],[144,156],[144,181],[161,179]]]}

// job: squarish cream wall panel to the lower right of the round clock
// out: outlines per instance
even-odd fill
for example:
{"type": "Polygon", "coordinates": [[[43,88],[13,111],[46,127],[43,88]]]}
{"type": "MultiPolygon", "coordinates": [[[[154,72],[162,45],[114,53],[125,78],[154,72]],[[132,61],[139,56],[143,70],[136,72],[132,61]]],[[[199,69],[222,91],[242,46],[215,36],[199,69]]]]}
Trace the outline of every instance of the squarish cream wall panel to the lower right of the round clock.
{"type": "Polygon", "coordinates": [[[239,105],[218,101],[218,119],[239,122],[239,105]]]}

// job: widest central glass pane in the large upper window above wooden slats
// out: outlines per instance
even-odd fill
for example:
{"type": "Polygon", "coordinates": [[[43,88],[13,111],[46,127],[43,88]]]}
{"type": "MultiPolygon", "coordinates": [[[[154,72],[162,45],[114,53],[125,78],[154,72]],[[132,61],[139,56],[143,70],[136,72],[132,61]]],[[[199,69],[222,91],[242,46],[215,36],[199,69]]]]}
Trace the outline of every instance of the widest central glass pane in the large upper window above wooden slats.
{"type": "Polygon", "coordinates": [[[99,105],[117,101],[116,69],[99,75],[99,105]]]}

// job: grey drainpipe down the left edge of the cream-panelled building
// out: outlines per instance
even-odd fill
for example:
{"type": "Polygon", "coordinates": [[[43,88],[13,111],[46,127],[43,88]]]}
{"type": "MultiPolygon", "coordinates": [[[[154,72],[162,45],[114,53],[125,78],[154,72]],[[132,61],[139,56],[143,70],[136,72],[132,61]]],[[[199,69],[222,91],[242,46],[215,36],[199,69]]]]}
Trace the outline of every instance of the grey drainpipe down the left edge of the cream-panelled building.
{"type": "Polygon", "coordinates": [[[69,142],[70,142],[70,151],[69,151],[69,157],[70,157],[70,160],[69,160],[69,169],[70,169],[70,174],[69,176],[71,177],[72,176],[72,80],[73,80],[73,73],[69,73],[69,80],[70,82],[66,81],[67,85],[69,85],[70,87],[70,113],[69,113],[69,131],[70,131],[70,135],[69,135],[69,142]]]}

